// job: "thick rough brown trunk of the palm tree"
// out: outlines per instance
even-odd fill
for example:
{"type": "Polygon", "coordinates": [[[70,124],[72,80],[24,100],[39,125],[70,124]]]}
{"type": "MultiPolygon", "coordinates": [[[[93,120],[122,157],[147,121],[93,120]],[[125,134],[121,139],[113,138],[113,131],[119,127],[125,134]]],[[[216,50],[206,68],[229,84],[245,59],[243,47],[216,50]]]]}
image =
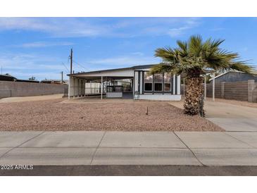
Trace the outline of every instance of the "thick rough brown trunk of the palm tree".
{"type": "Polygon", "coordinates": [[[191,116],[198,115],[199,101],[203,94],[203,78],[189,77],[186,92],[184,94],[184,113],[191,116]]]}

